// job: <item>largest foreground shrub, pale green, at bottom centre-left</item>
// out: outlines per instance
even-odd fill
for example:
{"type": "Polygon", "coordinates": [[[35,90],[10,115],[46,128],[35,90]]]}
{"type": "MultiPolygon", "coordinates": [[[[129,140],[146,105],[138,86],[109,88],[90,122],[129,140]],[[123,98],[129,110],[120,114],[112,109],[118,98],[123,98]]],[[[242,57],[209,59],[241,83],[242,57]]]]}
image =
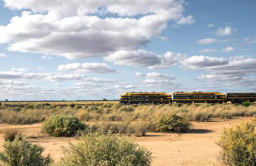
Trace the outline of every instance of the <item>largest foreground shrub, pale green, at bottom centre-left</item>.
{"type": "Polygon", "coordinates": [[[149,150],[125,137],[86,133],[78,144],[63,148],[65,157],[59,165],[150,165],[149,150]]]}

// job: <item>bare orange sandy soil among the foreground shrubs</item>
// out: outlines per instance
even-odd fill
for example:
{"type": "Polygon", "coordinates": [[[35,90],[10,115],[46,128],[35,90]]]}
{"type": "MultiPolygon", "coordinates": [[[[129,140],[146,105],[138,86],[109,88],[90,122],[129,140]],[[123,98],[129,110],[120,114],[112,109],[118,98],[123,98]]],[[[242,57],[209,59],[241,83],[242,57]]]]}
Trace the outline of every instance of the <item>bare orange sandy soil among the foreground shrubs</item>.
{"type": "MultiPolygon", "coordinates": [[[[231,127],[249,117],[237,117],[231,120],[211,120],[193,122],[190,133],[147,133],[145,137],[131,137],[134,142],[147,147],[154,156],[152,165],[219,165],[217,156],[220,148],[215,144],[224,127],[231,127]]],[[[0,144],[3,144],[3,132],[15,128],[33,143],[45,147],[44,154],[51,154],[55,161],[62,154],[62,146],[69,142],[76,143],[75,138],[51,137],[41,133],[41,123],[33,125],[0,125],[0,144]]],[[[0,147],[3,150],[3,147],[0,147]]]]}

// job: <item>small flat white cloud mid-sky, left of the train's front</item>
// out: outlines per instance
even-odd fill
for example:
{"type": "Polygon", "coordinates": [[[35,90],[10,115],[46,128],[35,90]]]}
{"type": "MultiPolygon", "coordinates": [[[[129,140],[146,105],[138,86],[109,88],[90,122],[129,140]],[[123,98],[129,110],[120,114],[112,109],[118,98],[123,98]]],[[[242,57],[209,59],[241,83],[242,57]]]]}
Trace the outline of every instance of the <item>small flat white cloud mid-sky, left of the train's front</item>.
{"type": "Polygon", "coordinates": [[[89,72],[89,73],[114,73],[116,70],[105,63],[72,63],[66,65],[59,65],[58,71],[73,70],[75,72],[89,72]]]}

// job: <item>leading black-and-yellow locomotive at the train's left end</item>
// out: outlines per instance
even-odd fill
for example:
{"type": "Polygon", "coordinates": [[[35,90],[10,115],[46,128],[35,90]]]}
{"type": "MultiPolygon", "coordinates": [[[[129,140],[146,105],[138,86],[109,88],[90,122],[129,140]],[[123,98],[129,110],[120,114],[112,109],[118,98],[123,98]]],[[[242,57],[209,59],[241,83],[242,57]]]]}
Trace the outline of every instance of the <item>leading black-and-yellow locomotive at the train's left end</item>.
{"type": "Polygon", "coordinates": [[[165,92],[126,92],[120,96],[120,103],[170,103],[172,95],[165,92]]]}

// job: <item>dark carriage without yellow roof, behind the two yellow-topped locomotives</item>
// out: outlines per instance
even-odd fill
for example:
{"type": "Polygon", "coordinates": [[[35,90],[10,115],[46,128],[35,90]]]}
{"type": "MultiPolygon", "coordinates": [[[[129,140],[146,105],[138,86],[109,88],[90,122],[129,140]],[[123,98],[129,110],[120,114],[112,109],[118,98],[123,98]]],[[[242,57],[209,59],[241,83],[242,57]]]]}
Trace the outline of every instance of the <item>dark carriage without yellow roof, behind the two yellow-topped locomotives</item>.
{"type": "Polygon", "coordinates": [[[244,101],[255,102],[256,93],[227,93],[227,101],[242,103],[244,101]]]}

